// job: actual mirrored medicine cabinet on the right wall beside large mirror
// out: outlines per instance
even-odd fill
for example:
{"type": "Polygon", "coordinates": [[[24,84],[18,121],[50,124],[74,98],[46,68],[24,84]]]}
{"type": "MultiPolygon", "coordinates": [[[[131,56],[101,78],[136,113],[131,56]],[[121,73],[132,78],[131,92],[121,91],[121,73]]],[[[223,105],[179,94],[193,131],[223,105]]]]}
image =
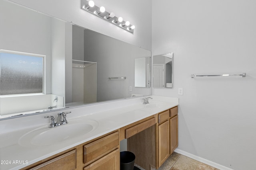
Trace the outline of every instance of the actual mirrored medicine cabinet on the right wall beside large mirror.
{"type": "Polygon", "coordinates": [[[153,87],[173,87],[173,53],[153,56],[153,87]]]}

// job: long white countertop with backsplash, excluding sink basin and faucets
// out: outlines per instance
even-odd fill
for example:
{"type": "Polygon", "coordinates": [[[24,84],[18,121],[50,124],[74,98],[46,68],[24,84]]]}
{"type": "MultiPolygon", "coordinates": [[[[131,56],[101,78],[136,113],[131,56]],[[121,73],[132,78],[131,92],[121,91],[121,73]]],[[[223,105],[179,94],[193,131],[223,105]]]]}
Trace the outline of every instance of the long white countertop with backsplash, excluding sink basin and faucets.
{"type": "Polygon", "coordinates": [[[65,133],[65,131],[62,131],[62,127],[68,127],[68,125],[72,125],[72,123],[77,123],[78,121],[80,123],[94,122],[94,129],[86,135],[79,135],[64,142],[56,142],[50,145],[30,145],[30,139],[24,139],[23,137],[23,143],[24,140],[27,140],[28,145],[26,146],[20,143],[20,139],[23,135],[36,128],[50,129],[48,128],[50,119],[44,119],[44,116],[54,115],[56,118],[59,111],[0,121],[0,170],[24,168],[39,160],[95,139],[96,137],[100,137],[171,107],[178,106],[178,98],[152,96],[153,99],[150,99],[149,102],[151,104],[155,103],[156,106],[145,107],[141,102],[142,98],[104,102],[66,109],[65,112],[72,111],[72,113],[67,115],[69,122],[67,125],[54,127],[59,128],[59,133],[65,133]],[[160,104],[158,105],[158,103],[160,104]]]}

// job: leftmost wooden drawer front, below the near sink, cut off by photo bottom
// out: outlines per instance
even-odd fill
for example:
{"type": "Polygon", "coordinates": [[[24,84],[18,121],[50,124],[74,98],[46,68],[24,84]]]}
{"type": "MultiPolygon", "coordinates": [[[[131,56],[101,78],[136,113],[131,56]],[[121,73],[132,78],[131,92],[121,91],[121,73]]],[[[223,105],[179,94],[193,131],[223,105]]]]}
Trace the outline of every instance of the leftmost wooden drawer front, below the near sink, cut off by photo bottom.
{"type": "Polygon", "coordinates": [[[29,170],[74,170],[76,169],[76,149],[66,152],[29,170]]]}

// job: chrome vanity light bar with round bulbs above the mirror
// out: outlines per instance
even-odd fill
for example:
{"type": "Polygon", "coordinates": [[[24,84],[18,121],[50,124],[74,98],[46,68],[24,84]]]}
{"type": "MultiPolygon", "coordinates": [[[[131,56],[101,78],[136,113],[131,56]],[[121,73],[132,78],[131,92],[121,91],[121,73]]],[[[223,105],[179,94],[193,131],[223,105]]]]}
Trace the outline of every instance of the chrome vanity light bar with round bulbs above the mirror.
{"type": "Polygon", "coordinates": [[[116,17],[114,12],[106,12],[104,6],[96,6],[92,0],[81,0],[81,9],[109,21],[130,33],[133,33],[134,31],[135,26],[131,25],[129,21],[123,21],[122,17],[116,17]]]}

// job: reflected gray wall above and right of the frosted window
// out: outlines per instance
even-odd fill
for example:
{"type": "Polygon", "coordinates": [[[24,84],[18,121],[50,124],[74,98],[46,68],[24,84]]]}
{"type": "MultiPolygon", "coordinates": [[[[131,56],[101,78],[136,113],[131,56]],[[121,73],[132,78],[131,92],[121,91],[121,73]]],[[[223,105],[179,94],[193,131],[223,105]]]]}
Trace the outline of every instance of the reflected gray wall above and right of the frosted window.
{"type": "Polygon", "coordinates": [[[51,18],[0,0],[0,49],[46,55],[46,93],[52,93],[51,18]]]}

